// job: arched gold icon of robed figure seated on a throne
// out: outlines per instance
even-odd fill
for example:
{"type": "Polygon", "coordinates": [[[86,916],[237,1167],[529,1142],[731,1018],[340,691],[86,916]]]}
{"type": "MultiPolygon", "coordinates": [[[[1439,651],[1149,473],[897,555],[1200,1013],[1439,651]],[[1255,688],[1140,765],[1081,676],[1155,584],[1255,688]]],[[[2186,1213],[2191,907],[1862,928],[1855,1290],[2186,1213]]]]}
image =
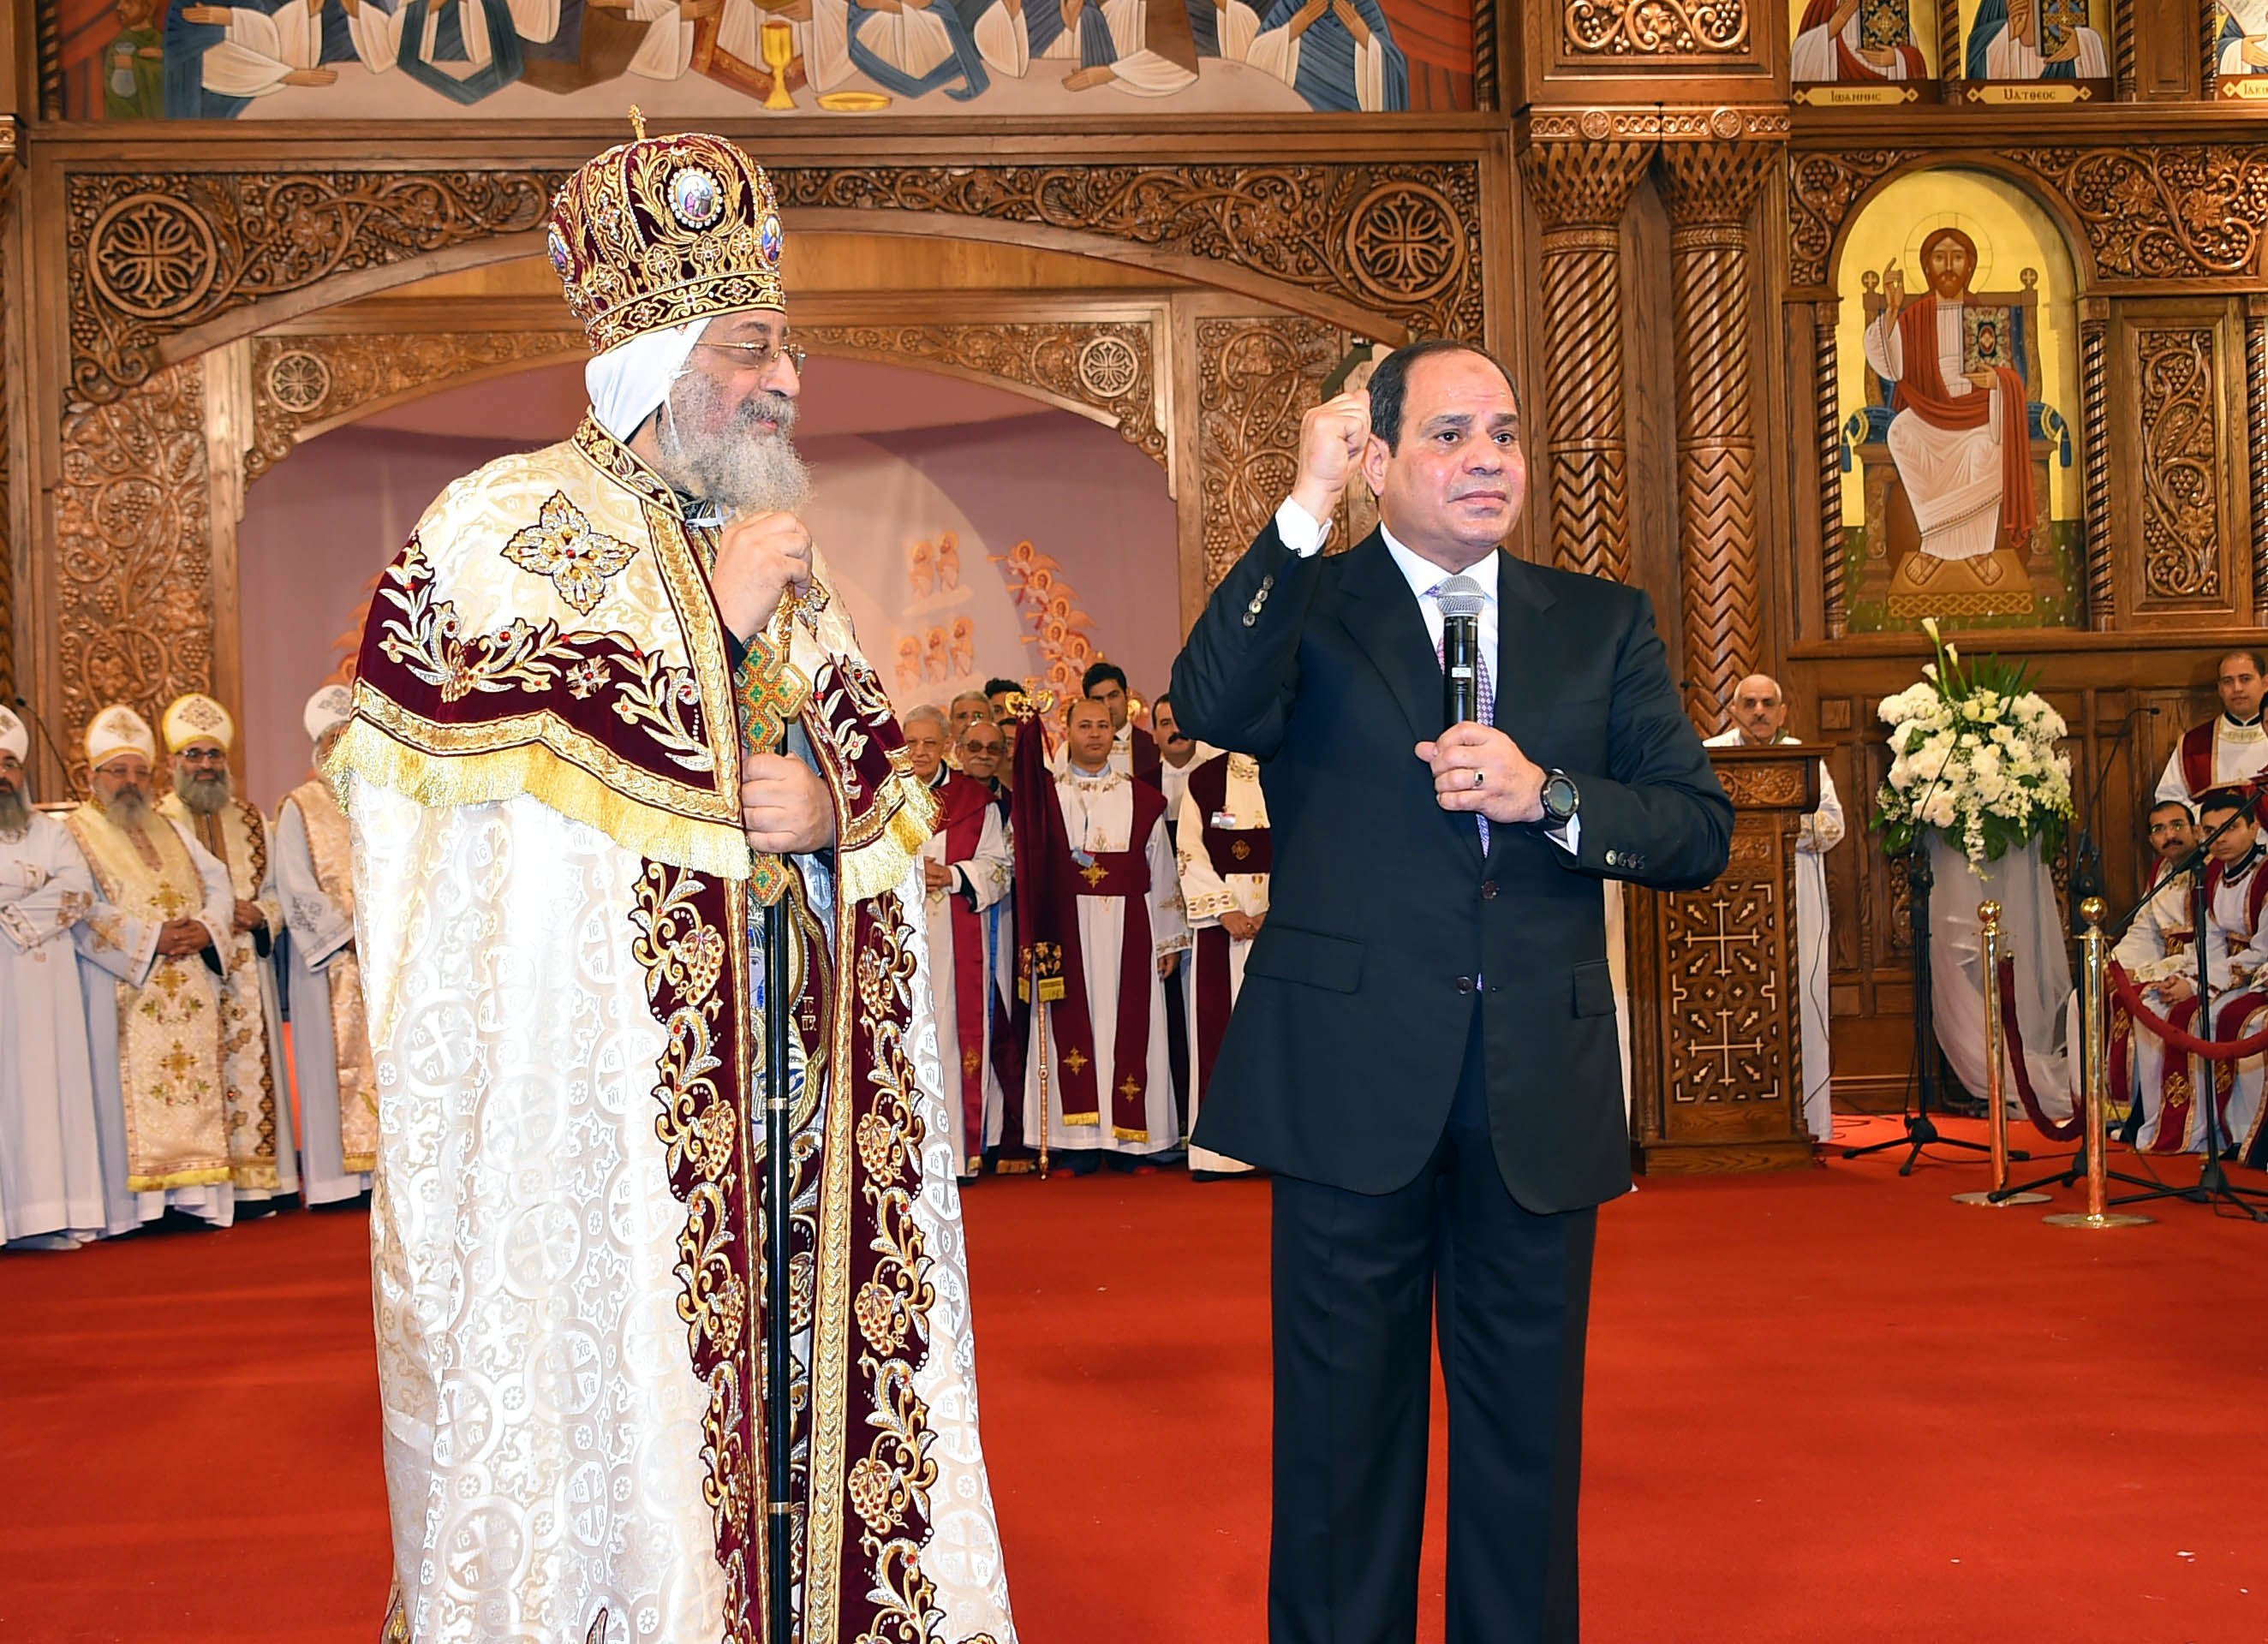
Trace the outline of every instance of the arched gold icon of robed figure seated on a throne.
{"type": "Polygon", "coordinates": [[[1851,630],[2075,624],[2077,293],[2055,222],[1998,177],[1912,172],[1839,270],[1851,630]]]}

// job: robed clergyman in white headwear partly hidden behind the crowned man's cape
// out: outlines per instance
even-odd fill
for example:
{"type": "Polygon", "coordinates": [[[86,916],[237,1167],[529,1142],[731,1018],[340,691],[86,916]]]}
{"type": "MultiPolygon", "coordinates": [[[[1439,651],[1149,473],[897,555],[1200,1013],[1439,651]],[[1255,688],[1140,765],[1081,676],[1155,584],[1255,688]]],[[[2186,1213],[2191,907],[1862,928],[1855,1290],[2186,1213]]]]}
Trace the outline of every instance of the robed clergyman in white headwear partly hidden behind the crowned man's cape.
{"type": "MultiPolygon", "coordinates": [[[[345,685],[306,703],[315,764],[331,753],[354,710],[345,685]]],[[[338,796],[320,776],[277,812],[277,893],[290,925],[293,1061],[299,1075],[299,1181],[308,1204],[370,1193],[379,1150],[379,1084],[363,1014],[363,966],[354,950],[354,837],[338,796]]]]}

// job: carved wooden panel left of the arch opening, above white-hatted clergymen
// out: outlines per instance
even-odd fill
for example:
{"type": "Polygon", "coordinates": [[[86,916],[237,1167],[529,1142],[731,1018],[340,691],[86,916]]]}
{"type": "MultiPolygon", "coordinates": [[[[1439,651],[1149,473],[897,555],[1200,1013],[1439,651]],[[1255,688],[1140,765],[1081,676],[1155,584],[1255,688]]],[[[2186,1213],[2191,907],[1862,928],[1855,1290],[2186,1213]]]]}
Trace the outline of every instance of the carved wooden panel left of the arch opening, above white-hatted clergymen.
{"type": "Polygon", "coordinates": [[[54,628],[66,751],[109,703],[152,723],[213,687],[213,537],[204,363],[156,372],[64,422],[54,628]]]}

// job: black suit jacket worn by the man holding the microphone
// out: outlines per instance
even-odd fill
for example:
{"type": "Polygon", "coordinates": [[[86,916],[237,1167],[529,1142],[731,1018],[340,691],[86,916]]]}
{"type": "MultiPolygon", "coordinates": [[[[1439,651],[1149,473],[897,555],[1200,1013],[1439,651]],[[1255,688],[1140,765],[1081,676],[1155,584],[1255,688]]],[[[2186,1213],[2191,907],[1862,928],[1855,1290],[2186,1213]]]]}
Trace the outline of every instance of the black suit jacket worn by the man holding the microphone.
{"type": "Polygon", "coordinates": [[[1581,789],[1579,853],[1433,800],[1413,753],[1442,678],[1372,533],[1300,558],[1275,526],[1173,667],[1182,728],[1261,760],[1268,921],[1204,1088],[1198,1141],[1356,1193],[1408,1184],[1440,1141],[1474,1011],[1497,1166],[1529,1211],[1631,1184],[1599,880],[1692,889],[1733,807],[1635,587],[1497,553],[1495,723],[1581,789]]]}

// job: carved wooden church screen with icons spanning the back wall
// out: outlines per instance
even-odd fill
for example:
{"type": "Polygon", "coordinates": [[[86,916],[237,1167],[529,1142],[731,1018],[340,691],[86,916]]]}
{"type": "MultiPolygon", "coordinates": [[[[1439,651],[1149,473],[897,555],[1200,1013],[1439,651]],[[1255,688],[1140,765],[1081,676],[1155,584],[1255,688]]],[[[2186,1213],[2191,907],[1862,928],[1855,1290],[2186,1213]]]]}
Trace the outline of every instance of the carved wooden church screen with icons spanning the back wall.
{"type": "MultiPolygon", "coordinates": [[[[41,0],[0,34],[0,683],[66,744],[109,698],[231,696],[234,519],[295,440],[572,351],[556,299],[420,281],[533,254],[633,100],[773,170],[821,354],[1002,383],[1150,454],[1184,617],[1356,340],[1497,347],[1529,426],[1515,551],[1647,587],[1703,730],[1762,669],[1826,748],[1851,1098],[1907,1070],[1910,932],[1864,819],[1921,619],[2037,664],[2082,805],[2127,710],[2168,710],[2109,769],[2116,898],[2127,796],[2268,608],[2259,0],[1116,0],[1109,63],[1055,0],[1021,48],[998,5],[930,34],[850,0],[569,7],[569,39],[474,0],[481,50],[388,45],[386,0],[238,7],[268,23],[41,0]]],[[[1726,905],[1746,925],[1633,898],[1633,948],[1696,1011],[1755,993],[1733,939],[1785,975],[1787,907],[1726,905]]],[[[1765,993],[1712,1020],[1785,1039],[1765,993]]],[[[1735,1052],[1710,1073],[1687,1027],[1637,1034],[1640,1088],[1733,1100],[1735,1052]]]]}

